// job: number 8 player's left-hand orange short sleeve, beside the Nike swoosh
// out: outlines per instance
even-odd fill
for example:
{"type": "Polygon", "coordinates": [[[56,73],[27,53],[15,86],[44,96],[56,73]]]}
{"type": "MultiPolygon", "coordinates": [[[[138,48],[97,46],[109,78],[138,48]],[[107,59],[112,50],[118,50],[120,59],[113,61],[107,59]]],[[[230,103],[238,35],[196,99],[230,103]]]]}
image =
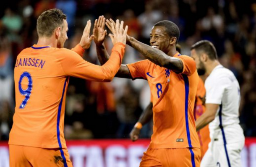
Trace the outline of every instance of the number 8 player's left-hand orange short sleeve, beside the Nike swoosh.
{"type": "Polygon", "coordinates": [[[127,64],[133,79],[146,79],[146,69],[149,67],[149,60],[141,60],[136,63],[127,64]]]}

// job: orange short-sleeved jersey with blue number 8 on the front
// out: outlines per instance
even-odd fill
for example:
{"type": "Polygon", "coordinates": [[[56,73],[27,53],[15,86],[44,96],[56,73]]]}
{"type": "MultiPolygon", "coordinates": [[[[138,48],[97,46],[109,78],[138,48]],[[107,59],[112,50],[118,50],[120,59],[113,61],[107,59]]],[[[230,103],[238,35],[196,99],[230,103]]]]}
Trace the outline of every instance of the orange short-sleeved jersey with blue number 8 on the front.
{"type": "Polygon", "coordinates": [[[177,74],[149,60],[128,64],[133,79],[148,81],[153,102],[153,135],[149,148],[200,148],[193,108],[199,76],[195,61],[186,55],[173,57],[183,62],[177,74]]]}

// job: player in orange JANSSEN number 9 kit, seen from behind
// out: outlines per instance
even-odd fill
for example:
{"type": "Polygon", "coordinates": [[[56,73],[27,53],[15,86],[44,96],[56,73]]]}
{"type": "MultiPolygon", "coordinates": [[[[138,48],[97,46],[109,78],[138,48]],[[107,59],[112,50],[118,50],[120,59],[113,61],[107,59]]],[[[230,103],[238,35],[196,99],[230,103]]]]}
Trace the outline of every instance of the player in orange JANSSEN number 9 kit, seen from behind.
{"type": "Polygon", "coordinates": [[[16,108],[9,139],[10,167],[72,167],[63,134],[69,76],[111,81],[122,62],[128,29],[123,30],[123,22],[112,24],[111,58],[99,66],[81,57],[94,38],[90,28],[87,21],[81,42],[72,51],[63,48],[68,23],[61,10],[47,10],[37,19],[38,42],[21,51],[14,69],[16,108]]]}

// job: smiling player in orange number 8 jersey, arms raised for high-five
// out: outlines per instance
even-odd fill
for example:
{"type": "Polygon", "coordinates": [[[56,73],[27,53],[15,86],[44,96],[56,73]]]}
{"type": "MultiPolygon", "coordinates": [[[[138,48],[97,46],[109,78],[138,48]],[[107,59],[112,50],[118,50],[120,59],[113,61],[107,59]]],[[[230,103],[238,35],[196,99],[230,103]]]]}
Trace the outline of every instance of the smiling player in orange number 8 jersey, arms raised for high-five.
{"type": "MultiPolygon", "coordinates": [[[[104,32],[104,18],[102,19],[102,24],[95,29],[104,32]]],[[[107,20],[110,29],[112,23],[115,22],[107,20]]],[[[156,23],[150,38],[151,47],[127,36],[127,43],[148,60],[121,65],[116,75],[147,79],[151,89],[153,135],[140,166],[199,167],[201,152],[193,117],[199,79],[196,64],[191,57],[180,55],[176,51],[179,29],[175,23],[156,23]]],[[[94,41],[99,60],[104,64],[109,58],[103,45],[104,37],[95,37],[94,41]]]]}

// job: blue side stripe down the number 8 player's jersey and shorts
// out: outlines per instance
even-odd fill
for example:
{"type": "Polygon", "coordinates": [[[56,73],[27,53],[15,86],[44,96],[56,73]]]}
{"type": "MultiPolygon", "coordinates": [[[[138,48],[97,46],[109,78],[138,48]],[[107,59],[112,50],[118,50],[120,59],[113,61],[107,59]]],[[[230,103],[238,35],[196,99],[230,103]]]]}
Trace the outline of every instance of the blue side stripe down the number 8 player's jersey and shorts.
{"type": "Polygon", "coordinates": [[[182,75],[185,83],[185,121],[186,121],[186,131],[187,131],[187,138],[188,138],[188,146],[189,146],[189,151],[191,153],[191,162],[192,162],[192,167],[196,167],[195,163],[195,154],[192,150],[193,146],[191,144],[191,138],[190,138],[190,131],[189,131],[189,124],[188,124],[188,94],[189,94],[189,81],[188,81],[188,76],[182,75]]]}

